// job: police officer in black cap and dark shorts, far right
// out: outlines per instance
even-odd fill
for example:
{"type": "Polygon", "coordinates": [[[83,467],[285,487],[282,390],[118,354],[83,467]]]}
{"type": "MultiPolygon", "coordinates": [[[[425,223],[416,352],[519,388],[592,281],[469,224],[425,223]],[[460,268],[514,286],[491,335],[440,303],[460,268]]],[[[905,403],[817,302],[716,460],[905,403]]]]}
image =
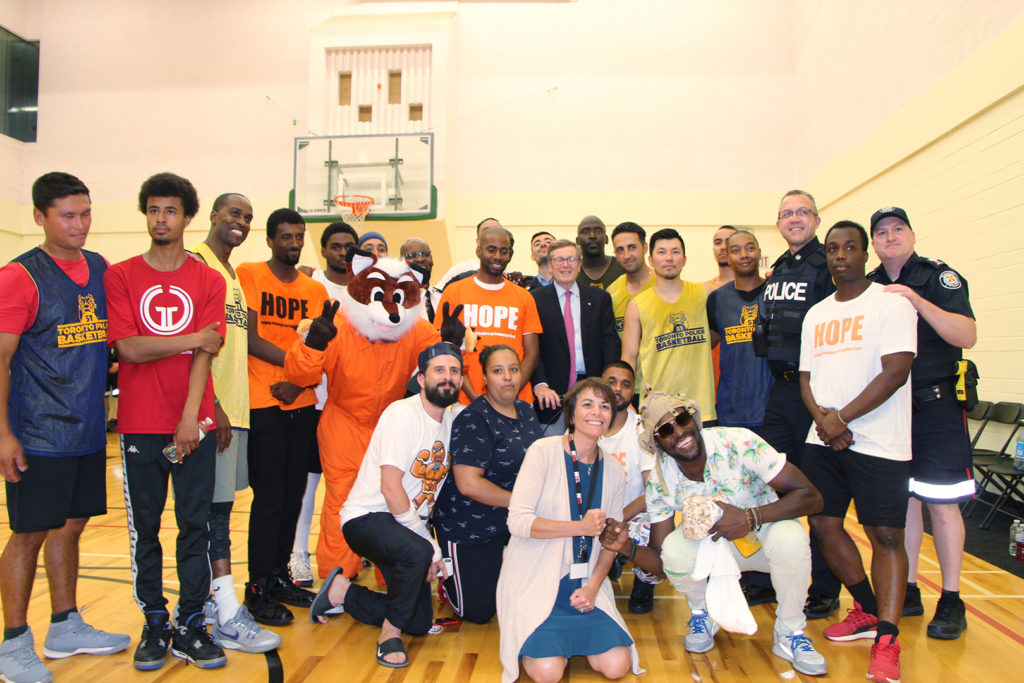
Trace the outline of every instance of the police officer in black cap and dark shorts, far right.
{"type": "Polygon", "coordinates": [[[959,503],[974,496],[971,440],[964,407],[956,399],[953,387],[963,349],[971,348],[977,341],[977,327],[967,281],[942,261],[919,256],[914,242],[903,209],[887,207],[876,211],[871,216],[871,243],[882,265],[867,276],[886,285],[887,291],[906,297],[918,310],[918,355],[910,370],[913,460],[905,536],[910,583],[903,615],[925,613],[921,591],[913,581],[918,574],[924,502],[928,504],[942,571],[942,596],[935,617],[928,625],[928,635],[953,640],[967,628],[964,601],[959,597],[964,557],[959,503]]]}

